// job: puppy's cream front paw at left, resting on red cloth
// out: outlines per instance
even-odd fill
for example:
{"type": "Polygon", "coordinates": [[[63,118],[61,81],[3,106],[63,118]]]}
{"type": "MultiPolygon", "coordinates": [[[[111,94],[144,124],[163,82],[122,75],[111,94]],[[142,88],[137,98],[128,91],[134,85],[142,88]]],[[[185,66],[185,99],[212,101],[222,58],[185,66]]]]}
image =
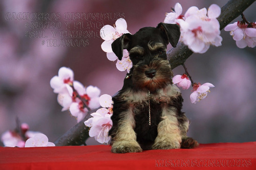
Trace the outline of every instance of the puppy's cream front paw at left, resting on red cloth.
{"type": "Polygon", "coordinates": [[[142,152],[137,141],[116,141],[112,144],[111,152],[113,153],[129,153],[142,152]]]}

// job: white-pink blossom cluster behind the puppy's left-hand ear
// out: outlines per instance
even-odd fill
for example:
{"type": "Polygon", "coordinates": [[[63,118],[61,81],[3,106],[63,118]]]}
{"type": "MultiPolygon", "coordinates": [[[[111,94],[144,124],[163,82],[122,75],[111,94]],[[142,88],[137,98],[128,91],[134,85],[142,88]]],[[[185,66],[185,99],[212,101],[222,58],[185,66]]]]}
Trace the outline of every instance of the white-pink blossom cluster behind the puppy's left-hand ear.
{"type": "Polygon", "coordinates": [[[116,67],[119,71],[124,71],[127,70],[127,72],[130,72],[130,68],[132,67],[132,62],[130,60],[129,54],[127,50],[123,50],[123,58],[121,61],[118,60],[117,56],[115,53],[112,51],[112,42],[122,36],[125,33],[129,33],[127,30],[127,23],[125,19],[119,18],[116,21],[116,27],[112,27],[110,25],[105,25],[101,30],[100,30],[100,36],[103,40],[105,40],[101,44],[101,48],[104,52],[106,52],[106,57],[110,61],[115,61],[117,60],[116,67]]]}

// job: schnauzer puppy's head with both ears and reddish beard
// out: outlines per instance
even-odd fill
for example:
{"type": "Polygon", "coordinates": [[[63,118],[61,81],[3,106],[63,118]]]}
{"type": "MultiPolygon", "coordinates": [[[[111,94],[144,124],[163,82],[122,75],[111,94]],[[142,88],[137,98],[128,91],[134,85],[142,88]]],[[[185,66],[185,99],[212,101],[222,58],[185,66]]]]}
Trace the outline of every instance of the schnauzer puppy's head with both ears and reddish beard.
{"type": "Polygon", "coordinates": [[[119,60],[127,49],[133,63],[133,84],[138,88],[155,91],[172,83],[173,72],[166,56],[167,44],[176,47],[180,28],[176,24],[159,23],[156,28],[145,27],[134,35],[123,34],[112,43],[119,60]]]}

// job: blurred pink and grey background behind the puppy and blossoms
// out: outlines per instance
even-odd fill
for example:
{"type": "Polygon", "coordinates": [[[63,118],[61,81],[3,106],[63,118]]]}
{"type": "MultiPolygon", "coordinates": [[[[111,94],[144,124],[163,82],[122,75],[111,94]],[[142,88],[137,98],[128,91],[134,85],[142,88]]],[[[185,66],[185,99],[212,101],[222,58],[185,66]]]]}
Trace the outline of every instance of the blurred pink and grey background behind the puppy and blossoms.
{"type": "MultiPolygon", "coordinates": [[[[127,30],[134,34],[142,27],[156,27],[177,2],[184,14],[190,6],[201,9],[217,4],[222,7],[228,1],[1,1],[0,135],[15,128],[16,116],[20,122],[29,124],[30,130],[46,134],[50,141],[77,123],[68,111],[61,112],[57,94],[50,87],[50,79],[61,66],[70,67],[75,80],[85,86],[97,86],[101,94],[113,95],[121,89],[126,74],[116,69],[116,62],[106,58],[100,47],[101,38],[88,38],[86,47],[42,45],[42,40],[51,38],[51,29],[45,30],[48,38],[26,37],[25,32],[32,30],[25,27],[26,22],[30,26],[31,20],[6,20],[7,12],[59,12],[61,18],[65,12],[124,13],[127,30]]],[[[244,12],[248,21],[256,21],[254,9],[255,3],[244,12]]],[[[238,17],[234,21],[237,20],[242,19],[238,17]]],[[[60,30],[67,30],[64,20],[60,21],[60,30]]],[[[103,22],[113,26],[115,20],[103,22]]],[[[208,97],[197,104],[190,103],[191,88],[182,90],[183,111],[191,120],[188,134],[200,143],[255,141],[256,50],[238,48],[229,32],[222,30],[221,36],[222,46],[211,46],[204,54],[193,54],[185,63],[195,82],[215,85],[208,97]]],[[[175,75],[184,72],[181,66],[173,71],[175,75]]]]}

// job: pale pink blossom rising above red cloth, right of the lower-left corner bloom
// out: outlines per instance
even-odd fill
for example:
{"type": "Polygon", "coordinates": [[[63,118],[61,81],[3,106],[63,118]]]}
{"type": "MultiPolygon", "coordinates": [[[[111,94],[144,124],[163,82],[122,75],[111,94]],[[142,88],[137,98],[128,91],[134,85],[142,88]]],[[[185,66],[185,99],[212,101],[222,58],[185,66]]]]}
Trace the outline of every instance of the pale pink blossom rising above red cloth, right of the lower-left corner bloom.
{"type": "Polygon", "coordinates": [[[25,148],[28,147],[55,147],[55,144],[49,142],[45,134],[38,133],[26,141],[25,148]]]}

